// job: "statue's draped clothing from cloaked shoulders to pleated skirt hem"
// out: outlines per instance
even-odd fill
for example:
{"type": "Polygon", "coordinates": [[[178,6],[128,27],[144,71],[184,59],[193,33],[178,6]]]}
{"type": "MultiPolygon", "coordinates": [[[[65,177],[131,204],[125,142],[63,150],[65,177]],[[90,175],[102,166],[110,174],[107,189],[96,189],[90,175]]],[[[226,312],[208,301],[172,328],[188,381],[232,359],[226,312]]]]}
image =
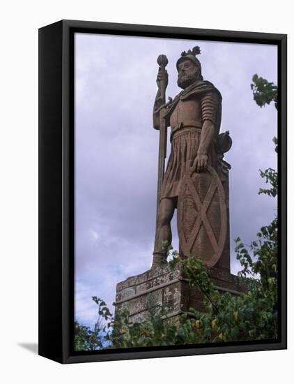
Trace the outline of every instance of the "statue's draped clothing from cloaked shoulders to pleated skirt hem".
{"type": "Polygon", "coordinates": [[[206,120],[215,124],[215,138],[208,149],[208,163],[217,168],[216,138],[222,113],[222,96],[207,81],[199,81],[180,92],[167,110],[171,126],[171,153],[164,174],[160,199],[177,198],[185,172],[197,155],[201,128],[206,120]]]}

